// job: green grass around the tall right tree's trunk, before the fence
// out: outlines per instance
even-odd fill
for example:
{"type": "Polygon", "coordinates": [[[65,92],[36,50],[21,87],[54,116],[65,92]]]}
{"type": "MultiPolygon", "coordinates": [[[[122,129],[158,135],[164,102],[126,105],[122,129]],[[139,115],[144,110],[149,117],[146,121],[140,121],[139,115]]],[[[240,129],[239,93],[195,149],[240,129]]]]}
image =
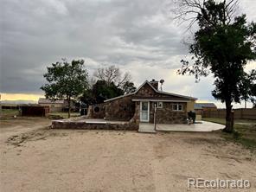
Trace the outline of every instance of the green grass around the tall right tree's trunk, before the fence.
{"type": "MultiPolygon", "coordinates": [[[[202,118],[202,120],[225,125],[224,118],[202,118]]],[[[256,120],[235,119],[234,132],[223,132],[222,136],[227,140],[242,144],[244,147],[256,151],[256,120]]]]}

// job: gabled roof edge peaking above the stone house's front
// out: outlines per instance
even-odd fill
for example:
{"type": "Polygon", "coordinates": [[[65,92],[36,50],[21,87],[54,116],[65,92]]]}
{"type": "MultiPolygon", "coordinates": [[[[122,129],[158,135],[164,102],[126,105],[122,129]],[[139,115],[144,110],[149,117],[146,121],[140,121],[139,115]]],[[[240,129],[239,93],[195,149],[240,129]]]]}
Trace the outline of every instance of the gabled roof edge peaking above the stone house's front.
{"type": "Polygon", "coordinates": [[[181,98],[185,98],[185,99],[192,99],[192,100],[196,100],[197,98],[192,98],[192,97],[189,97],[189,96],[185,96],[185,95],[181,95],[181,94],[175,94],[175,93],[168,93],[168,92],[162,92],[162,91],[158,91],[154,86],[152,86],[150,84],[150,82],[148,80],[145,80],[144,83],[138,87],[138,89],[133,92],[133,93],[129,93],[129,94],[124,94],[124,95],[121,95],[121,96],[118,96],[118,97],[115,97],[115,98],[112,98],[112,99],[106,99],[104,102],[108,102],[108,101],[112,101],[112,100],[115,100],[115,99],[120,99],[120,98],[124,98],[124,97],[127,97],[127,96],[131,96],[133,94],[136,94],[138,93],[138,91],[145,85],[145,84],[148,84],[156,93],[160,93],[160,94],[165,94],[165,95],[170,95],[170,96],[175,96],[175,97],[181,97],[181,98]]]}

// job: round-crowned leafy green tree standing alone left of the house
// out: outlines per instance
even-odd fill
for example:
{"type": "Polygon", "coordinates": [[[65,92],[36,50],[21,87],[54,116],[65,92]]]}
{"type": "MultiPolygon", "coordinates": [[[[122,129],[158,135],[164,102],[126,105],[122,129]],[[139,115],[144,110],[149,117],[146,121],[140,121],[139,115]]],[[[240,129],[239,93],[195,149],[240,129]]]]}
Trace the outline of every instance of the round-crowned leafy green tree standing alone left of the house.
{"type": "Polygon", "coordinates": [[[67,99],[68,118],[70,118],[71,99],[80,96],[87,88],[87,71],[84,69],[83,60],[74,60],[68,63],[66,60],[47,67],[48,73],[43,77],[48,81],[41,87],[48,99],[67,99]]]}

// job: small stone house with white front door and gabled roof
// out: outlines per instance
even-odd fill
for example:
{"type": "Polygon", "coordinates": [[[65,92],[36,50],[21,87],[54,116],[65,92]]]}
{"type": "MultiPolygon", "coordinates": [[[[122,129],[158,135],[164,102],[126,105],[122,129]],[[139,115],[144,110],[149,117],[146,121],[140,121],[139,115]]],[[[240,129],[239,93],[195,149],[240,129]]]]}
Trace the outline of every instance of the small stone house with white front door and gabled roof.
{"type": "Polygon", "coordinates": [[[196,98],[158,90],[158,81],[144,81],[134,93],[125,94],[104,103],[89,106],[87,118],[147,122],[157,124],[186,123],[189,111],[194,111],[196,98]]]}

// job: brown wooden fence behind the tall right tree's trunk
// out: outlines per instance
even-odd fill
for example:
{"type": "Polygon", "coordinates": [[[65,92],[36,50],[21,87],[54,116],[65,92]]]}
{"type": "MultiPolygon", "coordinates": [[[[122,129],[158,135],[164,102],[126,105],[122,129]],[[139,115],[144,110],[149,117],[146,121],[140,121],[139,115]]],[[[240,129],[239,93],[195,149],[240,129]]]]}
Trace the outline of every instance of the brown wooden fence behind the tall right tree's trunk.
{"type": "MultiPolygon", "coordinates": [[[[226,118],[226,110],[218,109],[217,111],[202,112],[203,118],[226,118]]],[[[234,109],[235,119],[254,119],[256,120],[256,109],[234,109]]]]}

